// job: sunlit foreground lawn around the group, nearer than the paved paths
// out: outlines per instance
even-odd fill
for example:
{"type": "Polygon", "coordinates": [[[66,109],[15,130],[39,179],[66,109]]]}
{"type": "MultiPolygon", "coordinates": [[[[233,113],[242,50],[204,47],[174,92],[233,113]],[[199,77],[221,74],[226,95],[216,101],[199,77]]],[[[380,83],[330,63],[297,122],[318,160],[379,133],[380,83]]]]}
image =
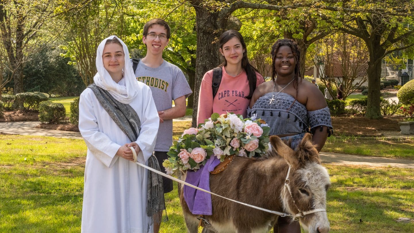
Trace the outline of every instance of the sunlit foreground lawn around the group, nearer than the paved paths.
{"type": "MultiPolygon", "coordinates": [[[[85,154],[82,140],[0,134],[0,232],[79,232],[85,154]]],[[[395,221],[414,218],[412,169],[324,165],[331,232],[412,232],[395,221]]],[[[163,233],[185,232],[174,186],[163,233]]]]}

